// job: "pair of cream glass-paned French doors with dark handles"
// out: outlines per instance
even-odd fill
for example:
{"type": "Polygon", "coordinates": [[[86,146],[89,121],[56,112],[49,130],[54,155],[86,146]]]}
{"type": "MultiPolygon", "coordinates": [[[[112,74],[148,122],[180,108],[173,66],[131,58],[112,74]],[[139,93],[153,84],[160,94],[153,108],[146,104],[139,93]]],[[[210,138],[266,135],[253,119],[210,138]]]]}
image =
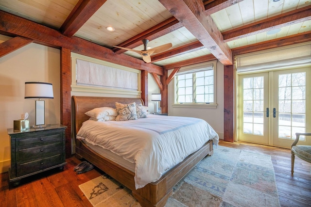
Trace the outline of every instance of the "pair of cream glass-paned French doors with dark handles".
{"type": "MultiPolygon", "coordinates": [[[[239,76],[238,140],[290,148],[311,131],[311,68],[239,76]]],[[[306,143],[305,137],[300,144],[306,143]]]]}

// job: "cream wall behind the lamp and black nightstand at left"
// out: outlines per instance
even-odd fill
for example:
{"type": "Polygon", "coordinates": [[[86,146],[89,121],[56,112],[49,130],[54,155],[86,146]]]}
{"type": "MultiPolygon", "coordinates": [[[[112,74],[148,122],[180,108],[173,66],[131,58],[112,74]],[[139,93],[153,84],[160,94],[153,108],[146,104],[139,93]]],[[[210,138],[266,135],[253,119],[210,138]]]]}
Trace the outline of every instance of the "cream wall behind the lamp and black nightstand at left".
{"type": "MultiPolygon", "coordinates": [[[[0,35],[0,43],[10,37],[0,35]]],[[[24,98],[27,81],[53,84],[54,99],[45,100],[45,123],[60,123],[60,50],[35,43],[0,58],[0,173],[10,166],[10,142],[7,128],[13,120],[28,112],[35,124],[35,100],[24,98]]]]}

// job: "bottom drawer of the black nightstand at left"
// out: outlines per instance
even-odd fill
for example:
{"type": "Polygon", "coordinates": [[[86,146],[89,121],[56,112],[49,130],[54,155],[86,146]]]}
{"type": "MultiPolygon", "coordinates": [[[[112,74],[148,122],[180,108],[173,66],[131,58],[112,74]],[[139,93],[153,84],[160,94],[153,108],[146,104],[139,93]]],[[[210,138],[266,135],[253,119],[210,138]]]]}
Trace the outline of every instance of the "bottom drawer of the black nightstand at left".
{"type": "Polygon", "coordinates": [[[56,155],[45,159],[35,160],[33,162],[16,163],[17,166],[17,177],[35,173],[40,170],[52,167],[57,164],[63,163],[62,155],[56,155]]]}

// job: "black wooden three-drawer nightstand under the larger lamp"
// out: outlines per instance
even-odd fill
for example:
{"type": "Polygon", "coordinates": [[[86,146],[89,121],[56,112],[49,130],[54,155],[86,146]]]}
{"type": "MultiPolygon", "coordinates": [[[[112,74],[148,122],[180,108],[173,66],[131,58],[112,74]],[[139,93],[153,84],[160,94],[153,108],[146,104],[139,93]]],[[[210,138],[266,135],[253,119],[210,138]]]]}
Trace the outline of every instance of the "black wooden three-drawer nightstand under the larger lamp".
{"type": "Polygon", "coordinates": [[[17,186],[24,177],[35,175],[52,168],[64,169],[65,129],[60,124],[44,128],[15,131],[9,128],[11,146],[11,168],[9,181],[17,186]]]}

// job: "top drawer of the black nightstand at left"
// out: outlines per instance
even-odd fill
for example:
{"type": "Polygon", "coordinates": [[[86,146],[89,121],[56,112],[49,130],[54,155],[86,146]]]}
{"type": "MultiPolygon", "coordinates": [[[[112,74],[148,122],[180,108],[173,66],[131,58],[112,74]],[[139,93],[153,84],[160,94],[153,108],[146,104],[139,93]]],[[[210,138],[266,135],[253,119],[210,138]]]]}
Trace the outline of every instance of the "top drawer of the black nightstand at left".
{"type": "Polygon", "coordinates": [[[43,134],[41,136],[32,136],[29,138],[17,138],[16,139],[16,147],[20,147],[26,144],[35,144],[35,145],[42,145],[47,144],[49,142],[53,142],[54,140],[61,140],[62,133],[51,133],[51,134],[43,134]]]}

